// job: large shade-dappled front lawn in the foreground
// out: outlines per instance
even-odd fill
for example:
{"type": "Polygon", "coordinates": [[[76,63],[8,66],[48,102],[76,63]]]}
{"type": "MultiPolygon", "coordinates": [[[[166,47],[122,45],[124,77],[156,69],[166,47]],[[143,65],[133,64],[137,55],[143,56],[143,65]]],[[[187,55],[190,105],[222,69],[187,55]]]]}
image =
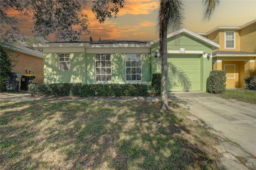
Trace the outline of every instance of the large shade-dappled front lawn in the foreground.
{"type": "Polygon", "coordinates": [[[213,134],[160,102],[1,101],[0,169],[217,169],[213,134]]]}

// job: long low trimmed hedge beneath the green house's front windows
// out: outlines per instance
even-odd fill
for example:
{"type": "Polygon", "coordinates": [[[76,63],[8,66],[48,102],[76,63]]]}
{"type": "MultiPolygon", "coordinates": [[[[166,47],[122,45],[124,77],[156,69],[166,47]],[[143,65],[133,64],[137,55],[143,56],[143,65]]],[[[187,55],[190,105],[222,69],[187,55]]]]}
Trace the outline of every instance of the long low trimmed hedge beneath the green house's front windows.
{"type": "Polygon", "coordinates": [[[89,84],[89,83],[32,83],[28,92],[41,95],[96,97],[96,96],[146,96],[148,86],[144,84],[89,84]]]}

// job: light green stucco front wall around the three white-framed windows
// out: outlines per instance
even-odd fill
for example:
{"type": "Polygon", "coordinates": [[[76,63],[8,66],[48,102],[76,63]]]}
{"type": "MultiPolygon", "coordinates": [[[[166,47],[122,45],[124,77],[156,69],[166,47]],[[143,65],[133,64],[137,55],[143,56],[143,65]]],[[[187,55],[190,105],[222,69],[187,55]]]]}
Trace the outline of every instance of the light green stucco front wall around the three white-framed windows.
{"type": "MultiPolygon", "coordinates": [[[[126,82],[125,53],[111,53],[112,83],[126,82]]],[[[142,53],[142,82],[151,81],[150,53],[142,53]]],[[[95,83],[95,54],[70,53],[70,71],[59,71],[58,53],[44,53],[45,83],[95,83]]]]}

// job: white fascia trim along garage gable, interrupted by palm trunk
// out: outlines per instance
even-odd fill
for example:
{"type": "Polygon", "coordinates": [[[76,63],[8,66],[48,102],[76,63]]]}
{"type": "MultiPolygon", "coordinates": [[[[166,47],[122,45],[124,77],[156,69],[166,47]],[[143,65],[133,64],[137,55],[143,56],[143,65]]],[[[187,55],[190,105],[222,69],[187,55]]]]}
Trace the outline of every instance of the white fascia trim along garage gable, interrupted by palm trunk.
{"type": "MultiPolygon", "coordinates": [[[[195,38],[195,39],[197,39],[197,40],[200,40],[200,41],[202,41],[202,42],[204,42],[204,43],[210,45],[210,46],[212,47],[212,49],[218,49],[218,48],[220,48],[220,45],[219,45],[218,43],[215,43],[215,42],[213,42],[213,41],[211,41],[211,40],[209,40],[209,39],[207,39],[207,38],[204,38],[204,37],[202,37],[202,36],[200,36],[200,35],[198,35],[198,34],[192,32],[192,31],[190,31],[190,30],[187,30],[186,28],[182,28],[182,29],[180,29],[180,30],[178,30],[178,31],[175,31],[175,32],[172,32],[171,34],[168,34],[168,35],[167,35],[167,38],[170,38],[170,37],[172,37],[172,36],[176,36],[177,34],[180,34],[180,33],[187,34],[188,36],[191,36],[191,37],[193,37],[193,38],[195,38]]],[[[155,43],[158,43],[159,40],[160,40],[160,39],[158,38],[158,39],[156,39],[156,40],[153,40],[153,41],[151,41],[151,42],[148,42],[147,45],[149,46],[149,45],[153,45],[153,44],[155,44],[155,43]]]]}

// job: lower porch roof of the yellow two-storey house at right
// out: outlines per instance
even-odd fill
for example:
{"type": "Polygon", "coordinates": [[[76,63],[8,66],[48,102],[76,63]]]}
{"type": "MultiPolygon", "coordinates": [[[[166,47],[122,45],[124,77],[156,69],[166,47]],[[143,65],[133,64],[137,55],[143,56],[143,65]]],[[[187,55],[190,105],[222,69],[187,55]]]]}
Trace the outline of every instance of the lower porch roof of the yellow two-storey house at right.
{"type": "Polygon", "coordinates": [[[256,57],[256,53],[244,51],[216,51],[212,53],[212,57],[256,57]]]}

